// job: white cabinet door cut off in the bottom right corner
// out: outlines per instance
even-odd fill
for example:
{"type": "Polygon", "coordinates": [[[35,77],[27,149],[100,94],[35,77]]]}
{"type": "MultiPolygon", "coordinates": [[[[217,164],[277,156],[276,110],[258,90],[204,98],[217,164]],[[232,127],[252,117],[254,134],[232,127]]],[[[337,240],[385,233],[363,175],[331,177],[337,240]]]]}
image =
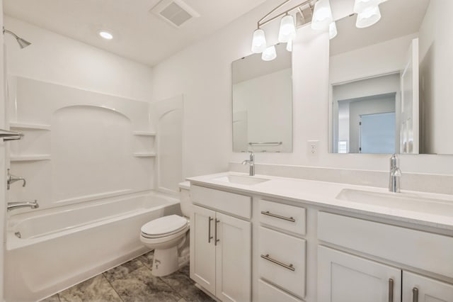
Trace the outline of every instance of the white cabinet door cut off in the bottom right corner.
{"type": "Polygon", "coordinates": [[[453,284],[403,272],[403,302],[453,302],[453,284]]]}

